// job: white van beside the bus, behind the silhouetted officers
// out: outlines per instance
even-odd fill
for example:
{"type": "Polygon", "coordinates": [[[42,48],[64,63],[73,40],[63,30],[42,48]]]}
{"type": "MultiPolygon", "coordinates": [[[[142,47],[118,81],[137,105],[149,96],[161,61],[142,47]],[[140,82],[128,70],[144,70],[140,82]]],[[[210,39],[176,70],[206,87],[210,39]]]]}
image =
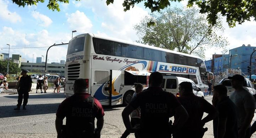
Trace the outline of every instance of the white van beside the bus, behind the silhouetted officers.
{"type": "Polygon", "coordinates": [[[200,88],[198,88],[192,80],[188,78],[183,78],[183,77],[172,77],[172,76],[164,76],[163,77],[163,83],[162,83],[162,88],[164,91],[171,92],[175,96],[179,97],[179,83],[181,82],[191,82],[192,87],[193,87],[193,93],[196,96],[199,97],[204,97],[203,92],[201,91],[200,88]]]}

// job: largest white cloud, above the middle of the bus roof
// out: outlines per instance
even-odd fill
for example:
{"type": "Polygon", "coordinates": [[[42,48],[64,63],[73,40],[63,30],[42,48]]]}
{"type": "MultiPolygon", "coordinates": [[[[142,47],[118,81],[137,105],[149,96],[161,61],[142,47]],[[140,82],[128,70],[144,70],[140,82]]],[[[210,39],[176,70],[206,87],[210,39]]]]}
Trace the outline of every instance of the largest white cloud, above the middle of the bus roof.
{"type": "Polygon", "coordinates": [[[101,25],[98,31],[108,34],[110,37],[135,41],[138,39],[133,26],[148,15],[148,12],[135,5],[129,11],[124,12],[123,1],[114,1],[114,4],[107,4],[103,1],[82,0],[75,1],[75,4],[82,3],[82,6],[92,9],[95,23],[101,25]]]}

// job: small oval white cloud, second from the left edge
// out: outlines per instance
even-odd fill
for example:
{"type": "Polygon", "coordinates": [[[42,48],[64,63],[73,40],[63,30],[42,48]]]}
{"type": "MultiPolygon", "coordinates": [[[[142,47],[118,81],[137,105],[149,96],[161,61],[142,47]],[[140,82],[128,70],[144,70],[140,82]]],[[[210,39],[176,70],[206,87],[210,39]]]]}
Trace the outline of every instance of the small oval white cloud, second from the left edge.
{"type": "Polygon", "coordinates": [[[48,16],[40,14],[37,11],[33,11],[32,16],[36,19],[38,25],[43,27],[48,27],[53,22],[48,16]]]}

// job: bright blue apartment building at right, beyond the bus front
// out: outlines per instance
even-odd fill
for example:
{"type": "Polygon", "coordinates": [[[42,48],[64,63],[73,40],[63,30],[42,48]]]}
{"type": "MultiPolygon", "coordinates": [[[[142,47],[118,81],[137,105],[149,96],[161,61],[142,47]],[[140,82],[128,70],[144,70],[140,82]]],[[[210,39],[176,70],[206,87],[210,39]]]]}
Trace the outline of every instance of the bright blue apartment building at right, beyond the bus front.
{"type": "MultiPolygon", "coordinates": [[[[243,45],[229,50],[229,54],[213,54],[211,60],[205,61],[207,71],[213,72],[214,75],[222,75],[227,68],[240,69],[243,76],[249,75],[247,67],[250,65],[251,53],[256,47],[243,45]]],[[[256,74],[256,52],[252,55],[252,74],[256,74]]]]}

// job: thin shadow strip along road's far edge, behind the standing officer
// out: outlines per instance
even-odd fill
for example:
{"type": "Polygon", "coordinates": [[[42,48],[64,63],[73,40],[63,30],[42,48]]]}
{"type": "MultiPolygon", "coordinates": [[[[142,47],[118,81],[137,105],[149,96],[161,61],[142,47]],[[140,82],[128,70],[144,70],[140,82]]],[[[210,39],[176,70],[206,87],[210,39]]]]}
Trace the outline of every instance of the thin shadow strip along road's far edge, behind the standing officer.
{"type": "MultiPolygon", "coordinates": [[[[12,96],[4,96],[6,98],[15,98],[18,99],[18,95],[12,95],[12,96]]],[[[47,98],[65,98],[64,93],[43,93],[38,95],[31,95],[29,94],[29,99],[47,99],[47,98]]]]}

